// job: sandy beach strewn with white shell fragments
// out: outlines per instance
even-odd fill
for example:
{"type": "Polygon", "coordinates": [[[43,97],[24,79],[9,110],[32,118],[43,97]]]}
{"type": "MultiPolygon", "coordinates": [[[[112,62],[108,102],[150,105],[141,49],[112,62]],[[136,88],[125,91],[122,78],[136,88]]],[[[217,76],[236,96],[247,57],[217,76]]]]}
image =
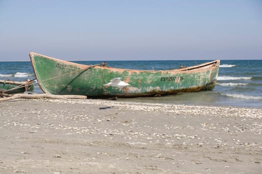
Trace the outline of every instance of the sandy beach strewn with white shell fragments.
{"type": "Polygon", "coordinates": [[[262,109],[0,103],[0,174],[262,174],[262,109]]]}

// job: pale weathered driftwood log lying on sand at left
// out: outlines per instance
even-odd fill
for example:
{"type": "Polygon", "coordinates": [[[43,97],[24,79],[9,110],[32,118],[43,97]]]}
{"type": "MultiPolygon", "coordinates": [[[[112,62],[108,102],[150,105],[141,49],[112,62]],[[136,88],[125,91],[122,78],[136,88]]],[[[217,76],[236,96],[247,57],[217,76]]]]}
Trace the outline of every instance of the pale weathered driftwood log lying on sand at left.
{"type": "Polygon", "coordinates": [[[60,98],[73,98],[73,99],[83,99],[87,98],[85,95],[52,95],[52,94],[22,94],[22,93],[17,93],[13,95],[5,95],[1,94],[2,96],[5,96],[4,98],[0,98],[1,101],[7,101],[7,100],[12,100],[12,99],[17,99],[17,98],[27,98],[27,99],[40,99],[40,98],[53,98],[53,99],[60,99],[60,98]]]}

